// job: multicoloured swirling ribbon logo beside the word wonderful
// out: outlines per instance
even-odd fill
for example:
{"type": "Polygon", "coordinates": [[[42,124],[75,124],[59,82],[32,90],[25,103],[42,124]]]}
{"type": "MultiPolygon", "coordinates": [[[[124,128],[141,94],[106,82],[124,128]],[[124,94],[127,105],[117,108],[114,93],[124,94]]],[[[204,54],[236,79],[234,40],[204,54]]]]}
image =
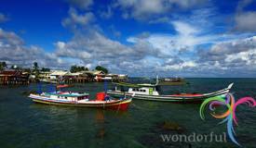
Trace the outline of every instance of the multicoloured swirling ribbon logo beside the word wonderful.
{"type": "Polygon", "coordinates": [[[236,141],[234,136],[235,129],[234,123],[238,126],[237,118],[236,118],[236,107],[237,105],[246,104],[250,107],[256,106],[256,101],[251,97],[243,97],[239,100],[235,101],[233,94],[227,93],[226,95],[216,96],[209,99],[206,99],[202,105],[200,106],[200,117],[204,120],[204,110],[209,105],[209,110],[211,111],[210,115],[215,118],[223,118],[222,123],[226,123],[227,126],[227,133],[232,142],[235,142],[237,145],[240,144],[236,141]],[[214,111],[216,106],[224,105],[226,106],[227,110],[222,114],[216,114],[214,111]]]}

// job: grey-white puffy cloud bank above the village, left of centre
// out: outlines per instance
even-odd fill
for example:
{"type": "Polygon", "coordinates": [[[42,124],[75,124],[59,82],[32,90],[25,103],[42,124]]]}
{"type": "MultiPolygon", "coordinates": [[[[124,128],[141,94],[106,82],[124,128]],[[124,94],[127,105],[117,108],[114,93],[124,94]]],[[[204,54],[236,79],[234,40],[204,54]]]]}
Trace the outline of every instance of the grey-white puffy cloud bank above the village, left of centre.
{"type": "MultiPolygon", "coordinates": [[[[74,38],[66,43],[56,43],[56,54],[63,57],[73,57],[84,61],[115,61],[135,60],[155,54],[148,43],[138,42],[128,46],[111,40],[98,31],[89,34],[76,32],[74,38]]],[[[111,63],[115,63],[111,62],[111,63]]],[[[103,62],[101,64],[106,64],[103,62]]]]}

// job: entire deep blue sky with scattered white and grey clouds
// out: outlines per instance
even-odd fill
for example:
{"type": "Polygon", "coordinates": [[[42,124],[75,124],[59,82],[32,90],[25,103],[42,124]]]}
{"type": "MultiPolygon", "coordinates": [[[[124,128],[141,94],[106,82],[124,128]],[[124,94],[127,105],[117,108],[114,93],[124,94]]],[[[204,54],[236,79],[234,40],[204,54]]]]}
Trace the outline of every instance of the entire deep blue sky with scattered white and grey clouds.
{"type": "Polygon", "coordinates": [[[0,61],[256,77],[256,0],[2,0],[0,61]]]}

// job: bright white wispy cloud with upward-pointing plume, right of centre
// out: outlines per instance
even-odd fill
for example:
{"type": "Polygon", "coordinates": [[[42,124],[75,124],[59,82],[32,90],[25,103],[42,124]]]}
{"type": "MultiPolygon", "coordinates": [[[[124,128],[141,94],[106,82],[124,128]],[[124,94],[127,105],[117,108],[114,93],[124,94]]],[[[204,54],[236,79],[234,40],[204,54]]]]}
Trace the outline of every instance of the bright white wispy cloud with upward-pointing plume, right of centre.
{"type": "Polygon", "coordinates": [[[211,43],[215,36],[197,35],[201,31],[182,21],[172,21],[177,34],[150,34],[147,37],[129,37],[129,43],[143,41],[158,49],[160,55],[173,56],[184,51],[193,51],[196,45],[211,43]]]}

